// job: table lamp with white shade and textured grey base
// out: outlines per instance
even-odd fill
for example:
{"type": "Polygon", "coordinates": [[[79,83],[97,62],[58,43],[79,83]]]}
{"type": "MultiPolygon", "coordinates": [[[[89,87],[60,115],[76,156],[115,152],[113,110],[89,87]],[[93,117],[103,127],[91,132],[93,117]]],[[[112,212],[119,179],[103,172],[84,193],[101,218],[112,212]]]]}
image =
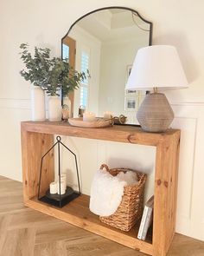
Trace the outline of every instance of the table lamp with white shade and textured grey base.
{"type": "Polygon", "coordinates": [[[158,89],[183,89],[188,82],[174,46],[153,45],[141,48],[125,89],[152,91],[137,111],[137,120],[147,132],[164,132],[174,119],[166,96],[158,89]]]}

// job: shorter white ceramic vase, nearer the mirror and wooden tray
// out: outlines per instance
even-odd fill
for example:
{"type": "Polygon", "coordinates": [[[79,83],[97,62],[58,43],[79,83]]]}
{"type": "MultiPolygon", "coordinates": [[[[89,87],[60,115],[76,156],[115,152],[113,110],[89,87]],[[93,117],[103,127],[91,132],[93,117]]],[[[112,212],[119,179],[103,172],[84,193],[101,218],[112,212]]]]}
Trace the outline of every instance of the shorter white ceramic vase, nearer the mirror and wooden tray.
{"type": "Polygon", "coordinates": [[[61,98],[59,96],[48,98],[48,120],[61,121],[61,98]]]}

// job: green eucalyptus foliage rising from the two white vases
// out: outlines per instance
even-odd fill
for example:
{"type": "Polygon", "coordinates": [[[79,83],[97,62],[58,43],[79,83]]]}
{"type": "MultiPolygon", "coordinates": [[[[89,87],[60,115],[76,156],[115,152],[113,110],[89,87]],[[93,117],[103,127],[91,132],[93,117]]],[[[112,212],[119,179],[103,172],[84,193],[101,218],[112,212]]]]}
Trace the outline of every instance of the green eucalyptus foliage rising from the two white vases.
{"type": "Polygon", "coordinates": [[[66,96],[80,87],[80,82],[86,79],[86,75],[90,76],[88,70],[87,74],[74,70],[67,60],[61,60],[59,57],[51,58],[48,48],[35,47],[33,57],[28,47],[26,43],[20,46],[21,59],[26,66],[26,70],[22,69],[20,74],[26,81],[46,90],[48,95],[58,95],[57,91],[61,89],[66,96]]]}

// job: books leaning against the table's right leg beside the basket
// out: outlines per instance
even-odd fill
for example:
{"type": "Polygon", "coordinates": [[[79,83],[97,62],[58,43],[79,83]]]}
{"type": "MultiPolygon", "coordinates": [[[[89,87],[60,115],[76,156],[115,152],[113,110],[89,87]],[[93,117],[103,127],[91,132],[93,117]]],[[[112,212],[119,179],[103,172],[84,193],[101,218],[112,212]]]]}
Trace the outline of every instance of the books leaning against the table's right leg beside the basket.
{"type": "Polygon", "coordinates": [[[153,218],[153,208],[154,208],[154,195],[151,196],[143,208],[143,217],[139,226],[139,231],[137,234],[137,239],[145,240],[148,229],[153,218]]]}

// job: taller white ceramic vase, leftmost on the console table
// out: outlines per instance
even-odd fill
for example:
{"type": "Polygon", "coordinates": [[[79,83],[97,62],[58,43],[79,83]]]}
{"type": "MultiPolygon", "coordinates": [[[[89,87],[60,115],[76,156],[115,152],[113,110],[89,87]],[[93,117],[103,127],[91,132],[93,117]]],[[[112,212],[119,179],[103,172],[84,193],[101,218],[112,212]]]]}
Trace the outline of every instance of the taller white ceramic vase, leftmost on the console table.
{"type": "Polygon", "coordinates": [[[45,92],[40,86],[31,88],[31,120],[45,121],[45,92]]]}

